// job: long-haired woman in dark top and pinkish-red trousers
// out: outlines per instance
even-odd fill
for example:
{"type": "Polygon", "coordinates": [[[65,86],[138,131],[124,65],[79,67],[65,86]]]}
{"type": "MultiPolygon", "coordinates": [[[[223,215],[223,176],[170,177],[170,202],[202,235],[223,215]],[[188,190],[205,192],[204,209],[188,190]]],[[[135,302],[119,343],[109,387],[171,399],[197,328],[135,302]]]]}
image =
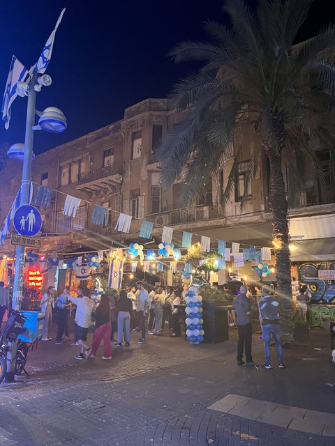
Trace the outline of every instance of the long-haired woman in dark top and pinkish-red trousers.
{"type": "Polygon", "coordinates": [[[112,325],[110,323],[110,300],[106,294],[101,295],[101,302],[96,307],[95,318],[96,328],[93,334],[91,357],[96,356],[101,341],[103,340],[103,346],[105,348],[103,360],[111,360],[110,333],[112,331],[112,325]]]}

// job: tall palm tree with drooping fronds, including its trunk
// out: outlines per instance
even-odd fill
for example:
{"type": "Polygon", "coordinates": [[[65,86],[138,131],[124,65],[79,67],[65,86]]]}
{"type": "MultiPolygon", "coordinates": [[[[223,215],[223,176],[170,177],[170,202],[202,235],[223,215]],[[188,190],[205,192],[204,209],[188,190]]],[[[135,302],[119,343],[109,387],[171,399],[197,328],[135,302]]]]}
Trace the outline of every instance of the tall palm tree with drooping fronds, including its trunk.
{"type": "Polygon", "coordinates": [[[312,1],[259,0],[252,9],[244,0],[227,0],[223,11],[230,21],[207,22],[209,42],[186,41],[174,47],[170,55],[177,63],[200,60],[204,66],[175,86],[171,96],[182,118],[158,152],[166,186],[186,170],[184,199],[188,200],[218,173],[233,145],[234,162],[224,194],[228,201],[238,164],[244,159],[241,135],[252,128],[255,144],[243,201],[262,160],[267,160],[273,237],[278,246],[281,333],[286,344],[292,343],[288,200],[297,197],[304,185],[308,165],[322,180],[311,138],[316,135],[320,144],[331,148],[335,136],[329,125],[334,123],[335,110],[335,68],[329,50],[335,45],[335,28],[329,26],[294,45],[312,1]],[[290,166],[290,197],[285,193],[284,160],[290,166]]]}

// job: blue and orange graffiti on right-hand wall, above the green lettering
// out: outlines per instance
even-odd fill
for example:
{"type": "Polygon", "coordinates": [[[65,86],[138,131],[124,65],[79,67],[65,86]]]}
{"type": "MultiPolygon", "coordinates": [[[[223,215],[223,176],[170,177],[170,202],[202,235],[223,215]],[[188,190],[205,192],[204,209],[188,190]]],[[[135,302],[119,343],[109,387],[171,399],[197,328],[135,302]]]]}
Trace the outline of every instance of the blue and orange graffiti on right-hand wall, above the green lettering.
{"type": "Polygon", "coordinates": [[[307,285],[312,302],[335,303],[335,280],[319,277],[319,271],[335,270],[335,262],[304,263],[298,270],[300,284],[307,285]]]}

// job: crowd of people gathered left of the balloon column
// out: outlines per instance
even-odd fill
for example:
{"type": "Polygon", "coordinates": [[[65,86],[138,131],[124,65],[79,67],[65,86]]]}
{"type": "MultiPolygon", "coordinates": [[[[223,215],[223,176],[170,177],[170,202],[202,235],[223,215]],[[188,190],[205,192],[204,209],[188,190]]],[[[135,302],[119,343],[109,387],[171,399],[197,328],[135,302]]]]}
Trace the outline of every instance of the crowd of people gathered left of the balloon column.
{"type": "Polygon", "coordinates": [[[55,344],[64,344],[63,337],[69,337],[71,316],[74,325],[74,346],[80,346],[77,360],[95,357],[103,342],[104,360],[112,359],[111,342],[121,348],[131,345],[131,333],[139,332],[138,344],[146,342],[146,334],[160,336],[168,325],[171,337],[181,336],[181,315],[177,307],[184,302],[188,286],[181,291],[171,286],[154,286],[150,292],[144,289],[141,281],[136,286],[124,286],[120,291],[112,290],[101,295],[95,303],[85,286],[78,286],[77,295],[71,295],[66,286],[58,298],[54,287],[49,286],[40,301],[40,309],[45,313],[42,341],[50,341],[52,314],[57,323],[55,344]],[[87,334],[94,321],[92,344],[87,344],[87,334]],[[115,339],[116,337],[116,339],[115,339]]]}

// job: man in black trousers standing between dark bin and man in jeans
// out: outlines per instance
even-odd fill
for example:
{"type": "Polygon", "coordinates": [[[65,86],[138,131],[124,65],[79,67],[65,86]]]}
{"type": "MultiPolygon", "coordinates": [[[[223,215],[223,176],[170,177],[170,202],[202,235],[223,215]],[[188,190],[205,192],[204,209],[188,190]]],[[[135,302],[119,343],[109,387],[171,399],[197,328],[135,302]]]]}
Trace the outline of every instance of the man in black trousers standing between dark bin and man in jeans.
{"type": "Polygon", "coordinates": [[[239,340],[237,341],[237,365],[244,365],[243,351],[246,353],[246,365],[253,365],[251,355],[251,343],[253,339],[253,328],[250,322],[251,302],[246,297],[248,289],[245,285],[240,288],[241,294],[232,300],[232,309],[236,313],[237,332],[239,340]]]}

